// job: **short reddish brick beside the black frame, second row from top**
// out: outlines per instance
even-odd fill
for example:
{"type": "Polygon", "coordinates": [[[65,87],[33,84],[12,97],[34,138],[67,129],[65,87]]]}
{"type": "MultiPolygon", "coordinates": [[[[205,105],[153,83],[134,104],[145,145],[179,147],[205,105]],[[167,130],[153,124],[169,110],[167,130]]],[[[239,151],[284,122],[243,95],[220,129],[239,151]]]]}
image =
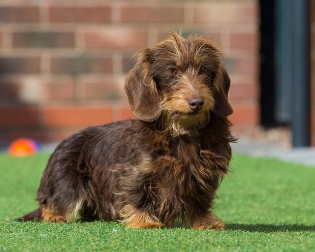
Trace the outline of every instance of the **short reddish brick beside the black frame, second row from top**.
{"type": "Polygon", "coordinates": [[[230,33],[229,47],[231,49],[258,49],[258,34],[252,33],[230,33]]]}

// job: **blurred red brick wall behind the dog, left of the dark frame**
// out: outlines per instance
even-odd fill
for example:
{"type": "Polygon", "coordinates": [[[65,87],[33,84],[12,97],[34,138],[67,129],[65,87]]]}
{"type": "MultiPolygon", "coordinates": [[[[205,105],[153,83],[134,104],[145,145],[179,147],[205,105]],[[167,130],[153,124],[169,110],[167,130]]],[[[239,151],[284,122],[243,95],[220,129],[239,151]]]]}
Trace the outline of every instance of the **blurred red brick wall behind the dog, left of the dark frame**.
{"type": "Polygon", "coordinates": [[[229,56],[231,121],[259,124],[257,0],[1,0],[0,139],[60,140],[130,118],[130,56],[167,29],[206,33],[229,56]]]}

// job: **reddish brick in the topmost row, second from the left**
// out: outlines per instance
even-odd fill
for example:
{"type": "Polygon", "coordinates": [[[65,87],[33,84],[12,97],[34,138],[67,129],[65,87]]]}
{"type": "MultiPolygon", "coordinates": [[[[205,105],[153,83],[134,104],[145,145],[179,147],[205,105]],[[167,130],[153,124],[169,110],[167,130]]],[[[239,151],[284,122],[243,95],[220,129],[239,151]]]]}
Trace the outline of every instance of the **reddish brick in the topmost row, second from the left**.
{"type": "Polygon", "coordinates": [[[49,8],[49,21],[55,23],[108,23],[110,20],[110,6],[51,6],[49,8]]]}

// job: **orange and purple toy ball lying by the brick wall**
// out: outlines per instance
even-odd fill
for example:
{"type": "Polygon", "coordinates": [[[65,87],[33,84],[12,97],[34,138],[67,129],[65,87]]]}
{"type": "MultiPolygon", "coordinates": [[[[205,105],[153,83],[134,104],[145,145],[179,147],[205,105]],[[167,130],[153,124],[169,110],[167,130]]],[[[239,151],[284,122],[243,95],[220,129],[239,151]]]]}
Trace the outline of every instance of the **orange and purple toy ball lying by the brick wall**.
{"type": "Polygon", "coordinates": [[[25,157],[38,152],[39,145],[30,138],[18,138],[14,140],[8,149],[8,153],[13,157],[25,157]]]}

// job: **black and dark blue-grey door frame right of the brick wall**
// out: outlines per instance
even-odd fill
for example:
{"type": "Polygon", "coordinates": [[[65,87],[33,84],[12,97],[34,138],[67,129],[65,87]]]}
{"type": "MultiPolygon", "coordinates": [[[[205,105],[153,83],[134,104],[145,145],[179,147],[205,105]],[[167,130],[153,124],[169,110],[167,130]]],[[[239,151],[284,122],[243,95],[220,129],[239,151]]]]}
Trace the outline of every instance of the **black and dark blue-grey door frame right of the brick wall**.
{"type": "Polygon", "coordinates": [[[288,124],[292,146],[310,146],[310,0],[259,3],[262,125],[288,124]]]}

